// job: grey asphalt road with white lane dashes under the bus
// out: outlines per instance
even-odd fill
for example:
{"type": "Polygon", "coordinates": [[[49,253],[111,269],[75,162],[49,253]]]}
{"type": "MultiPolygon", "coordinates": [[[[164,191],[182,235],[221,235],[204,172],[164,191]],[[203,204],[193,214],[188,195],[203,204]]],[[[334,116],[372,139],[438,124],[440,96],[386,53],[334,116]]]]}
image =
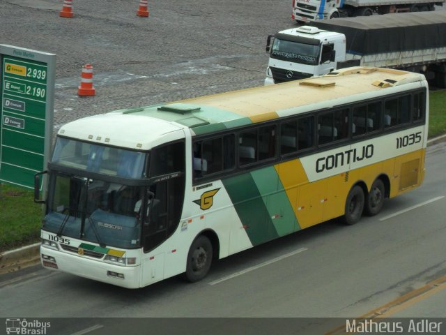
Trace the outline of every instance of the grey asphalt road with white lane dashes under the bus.
{"type": "MultiPolygon", "coordinates": [[[[353,226],[330,221],[238,253],[217,262],[199,283],[170,278],[126,290],[40,267],[3,275],[0,318],[84,318],[58,320],[57,334],[87,329],[98,335],[128,327],[116,317],[214,318],[199,321],[193,334],[242,327],[240,320],[219,318],[329,318],[323,325],[300,319],[303,329],[317,325],[325,331],[362,315],[446,318],[445,162],[446,144],[433,145],[422,187],[388,200],[378,216],[353,226]]],[[[271,320],[256,324],[256,334],[272,334],[271,320]]],[[[174,324],[181,322],[187,320],[174,324]]],[[[176,334],[171,325],[157,327],[176,334]]]]}

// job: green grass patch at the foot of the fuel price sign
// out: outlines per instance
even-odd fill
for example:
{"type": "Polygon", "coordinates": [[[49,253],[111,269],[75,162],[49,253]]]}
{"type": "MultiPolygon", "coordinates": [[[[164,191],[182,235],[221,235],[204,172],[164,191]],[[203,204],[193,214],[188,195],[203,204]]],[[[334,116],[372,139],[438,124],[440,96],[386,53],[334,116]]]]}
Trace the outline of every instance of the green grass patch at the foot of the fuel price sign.
{"type": "Polygon", "coordinates": [[[42,207],[33,191],[0,184],[0,252],[40,239],[42,207]]]}

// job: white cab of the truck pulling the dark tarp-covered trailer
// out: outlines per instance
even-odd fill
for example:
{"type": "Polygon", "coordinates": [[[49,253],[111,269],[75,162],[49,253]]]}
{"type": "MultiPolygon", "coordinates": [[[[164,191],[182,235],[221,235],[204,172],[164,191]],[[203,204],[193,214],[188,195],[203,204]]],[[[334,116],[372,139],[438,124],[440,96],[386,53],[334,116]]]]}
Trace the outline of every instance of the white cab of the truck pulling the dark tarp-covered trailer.
{"type": "Polygon", "coordinates": [[[270,58],[265,84],[277,84],[326,75],[336,69],[337,61],[346,57],[346,37],[302,26],[268,36],[266,51],[270,58]]]}

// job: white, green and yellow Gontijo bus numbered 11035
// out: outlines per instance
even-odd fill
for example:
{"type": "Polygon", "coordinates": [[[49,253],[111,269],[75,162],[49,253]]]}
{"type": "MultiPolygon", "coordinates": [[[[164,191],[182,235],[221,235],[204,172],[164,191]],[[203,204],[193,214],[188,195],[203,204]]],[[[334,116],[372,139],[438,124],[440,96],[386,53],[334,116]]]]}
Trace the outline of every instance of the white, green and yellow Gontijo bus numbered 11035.
{"type": "Polygon", "coordinates": [[[423,75],[356,67],[65,124],[36,174],[42,265],[125,288],[199,281],[213,260],[378,214],[422,184],[428,93],[423,75]]]}

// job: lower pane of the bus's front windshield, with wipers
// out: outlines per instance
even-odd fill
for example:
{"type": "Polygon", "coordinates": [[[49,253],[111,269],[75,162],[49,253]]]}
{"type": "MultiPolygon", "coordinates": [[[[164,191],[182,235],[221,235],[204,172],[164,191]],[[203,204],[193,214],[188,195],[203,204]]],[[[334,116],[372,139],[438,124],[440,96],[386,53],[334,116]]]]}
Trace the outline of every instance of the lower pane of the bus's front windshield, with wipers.
{"type": "Polygon", "coordinates": [[[53,173],[43,229],[101,246],[137,248],[144,189],[53,173]]]}

